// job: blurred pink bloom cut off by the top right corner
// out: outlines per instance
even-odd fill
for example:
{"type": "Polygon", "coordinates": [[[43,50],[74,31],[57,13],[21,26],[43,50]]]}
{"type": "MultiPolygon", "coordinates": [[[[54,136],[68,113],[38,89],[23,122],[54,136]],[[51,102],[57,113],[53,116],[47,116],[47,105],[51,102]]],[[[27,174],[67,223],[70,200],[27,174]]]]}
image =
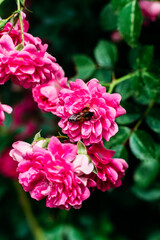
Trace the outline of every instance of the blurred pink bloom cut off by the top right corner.
{"type": "Polygon", "coordinates": [[[139,1],[139,5],[142,11],[142,15],[151,20],[156,21],[160,14],[160,2],[158,1],[139,1]]]}

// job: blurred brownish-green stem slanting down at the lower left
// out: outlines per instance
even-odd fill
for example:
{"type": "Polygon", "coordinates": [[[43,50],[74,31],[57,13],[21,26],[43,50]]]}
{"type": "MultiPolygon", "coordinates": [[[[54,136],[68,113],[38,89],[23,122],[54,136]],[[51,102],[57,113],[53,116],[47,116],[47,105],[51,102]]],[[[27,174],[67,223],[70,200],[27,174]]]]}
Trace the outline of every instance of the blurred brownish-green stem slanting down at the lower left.
{"type": "Polygon", "coordinates": [[[19,202],[24,211],[25,217],[26,217],[28,225],[32,231],[34,239],[35,240],[46,240],[43,230],[38,225],[37,220],[35,219],[35,217],[32,213],[31,206],[30,206],[30,203],[28,201],[28,198],[27,198],[25,192],[23,191],[23,189],[21,188],[19,183],[16,181],[14,181],[14,187],[17,191],[17,194],[19,197],[19,202]]]}

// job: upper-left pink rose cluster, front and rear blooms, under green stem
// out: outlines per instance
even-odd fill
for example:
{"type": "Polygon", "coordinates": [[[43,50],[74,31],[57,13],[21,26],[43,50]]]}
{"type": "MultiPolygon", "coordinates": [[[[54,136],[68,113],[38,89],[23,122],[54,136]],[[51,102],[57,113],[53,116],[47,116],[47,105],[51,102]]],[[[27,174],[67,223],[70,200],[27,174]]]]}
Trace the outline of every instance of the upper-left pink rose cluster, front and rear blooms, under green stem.
{"type": "Polygon", "coordinates": [[[0,84],[11,79],[13,83],[24,88],[33,88],[54,79],[60,66],[56,59],[47,53],[48,45],[43,45],[39,38],[27,33],[29,26],[25,15],[23,26],[24,46],[21,44],[19,22],[15,27],[7,23],[0,32],[0,84]]]}

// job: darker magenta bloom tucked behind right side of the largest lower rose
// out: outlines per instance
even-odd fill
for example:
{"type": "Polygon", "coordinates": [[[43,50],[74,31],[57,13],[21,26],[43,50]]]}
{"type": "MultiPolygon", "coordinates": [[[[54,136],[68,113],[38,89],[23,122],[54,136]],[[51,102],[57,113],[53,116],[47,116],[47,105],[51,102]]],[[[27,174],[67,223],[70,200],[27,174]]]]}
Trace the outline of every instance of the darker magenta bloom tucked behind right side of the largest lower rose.
{"type": "Polygon", "coordinates": [[[119,187],[121,178],[128,168],[125,160],[112,158],[114,154],[114,151],[105,149],[102,142],[93,144],[88,149],[88,155],[97,171],[97,174],[92,173],[91,177],[97,183],[97,188],[103,192],[119,187]]]}

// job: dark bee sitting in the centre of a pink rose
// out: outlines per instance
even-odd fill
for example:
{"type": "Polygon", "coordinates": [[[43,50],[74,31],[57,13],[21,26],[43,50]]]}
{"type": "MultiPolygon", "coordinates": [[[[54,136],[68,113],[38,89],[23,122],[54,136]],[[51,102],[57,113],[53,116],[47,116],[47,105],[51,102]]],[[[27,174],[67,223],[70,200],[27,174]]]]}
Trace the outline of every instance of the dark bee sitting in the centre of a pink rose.
{"type": "Polygon", "coordinates": [[[86,107],[82,110],[82,112],[71,115],[68,118],[68,121],[83,123],[84,121],[89,121],[92,117],[93,117],[93,112],[90,112],[89,107],[86,107]]]}

